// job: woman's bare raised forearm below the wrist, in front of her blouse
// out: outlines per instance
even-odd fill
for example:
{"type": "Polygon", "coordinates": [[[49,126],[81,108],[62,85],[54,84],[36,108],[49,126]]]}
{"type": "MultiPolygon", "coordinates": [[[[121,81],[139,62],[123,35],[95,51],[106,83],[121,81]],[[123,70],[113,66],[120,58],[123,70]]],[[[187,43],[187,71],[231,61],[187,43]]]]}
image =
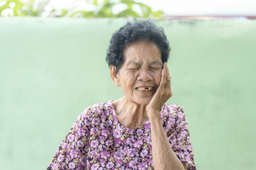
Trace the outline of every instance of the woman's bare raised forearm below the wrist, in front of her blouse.
{"type": "Polygon", "coordinates": [[[150,125],[154,169],[184,170],[182,162],[172,150],[160,118],[150,118],[150,125]]]}

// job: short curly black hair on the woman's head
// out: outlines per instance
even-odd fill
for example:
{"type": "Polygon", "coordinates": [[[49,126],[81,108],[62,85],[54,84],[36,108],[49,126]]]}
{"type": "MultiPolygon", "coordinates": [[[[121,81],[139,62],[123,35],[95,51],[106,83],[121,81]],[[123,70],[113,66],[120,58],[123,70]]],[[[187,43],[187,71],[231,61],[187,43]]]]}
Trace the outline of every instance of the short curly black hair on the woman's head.
{"type": "Polygon", "coordinates": [[[167,62],[171,48],[164,29],[157,27],[151,20],[133,20],[113,33],[108,46],[106,61],[108,66],[116,67],[116,74],[124,62],[125,48],[136,41],[156,44],[161,51],[162,62],[167,62]]]}

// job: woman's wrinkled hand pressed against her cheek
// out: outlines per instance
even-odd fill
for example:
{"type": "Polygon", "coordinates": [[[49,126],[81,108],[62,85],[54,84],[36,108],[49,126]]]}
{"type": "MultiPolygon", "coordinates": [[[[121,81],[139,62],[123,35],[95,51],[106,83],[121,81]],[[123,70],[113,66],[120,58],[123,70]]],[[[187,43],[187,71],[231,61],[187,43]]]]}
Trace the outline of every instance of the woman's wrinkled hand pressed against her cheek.
{"type": "Polygon", "coordinates": [[[170,85],[171,78],[166,62],[164,62],[163,64],[161,74],[162,77],[160,85],[156,90],[156,93],[152,97],[151,101],[146,106],[148,118],[151,118],[152,116],[160,118],[159,113],[162,110],[164,103],[166,103],[166,101],[168,101],[168,99],[172,97],[172,90],[170,85]]]}

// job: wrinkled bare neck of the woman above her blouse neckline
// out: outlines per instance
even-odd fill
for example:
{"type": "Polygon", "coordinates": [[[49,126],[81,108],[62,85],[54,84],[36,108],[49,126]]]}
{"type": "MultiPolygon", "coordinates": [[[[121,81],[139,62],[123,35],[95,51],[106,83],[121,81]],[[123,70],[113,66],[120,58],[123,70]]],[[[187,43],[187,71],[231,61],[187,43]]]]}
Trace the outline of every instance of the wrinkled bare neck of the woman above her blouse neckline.
{"type": "Polygon", "coordinates": [[[145,124],[148,120],[145,104],[134,103],[127,100],[124,96],[121,99],[113,101],[118,122],[124,127],[136,129],[145,124]]]}

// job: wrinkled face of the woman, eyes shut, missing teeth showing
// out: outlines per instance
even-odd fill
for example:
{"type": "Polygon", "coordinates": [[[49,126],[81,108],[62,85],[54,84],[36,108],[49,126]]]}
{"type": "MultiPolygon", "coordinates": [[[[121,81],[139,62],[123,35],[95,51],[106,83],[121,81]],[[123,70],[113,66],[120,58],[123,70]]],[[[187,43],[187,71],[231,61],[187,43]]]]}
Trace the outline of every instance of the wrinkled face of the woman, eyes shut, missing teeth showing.
{"type": "Polygon", "coordinates": [[[148,104],[161,81],[163,62],[158,46],[137,41],[124,50],[124,63],[118,71],[119,85],[129,101],[148,104]]]}

